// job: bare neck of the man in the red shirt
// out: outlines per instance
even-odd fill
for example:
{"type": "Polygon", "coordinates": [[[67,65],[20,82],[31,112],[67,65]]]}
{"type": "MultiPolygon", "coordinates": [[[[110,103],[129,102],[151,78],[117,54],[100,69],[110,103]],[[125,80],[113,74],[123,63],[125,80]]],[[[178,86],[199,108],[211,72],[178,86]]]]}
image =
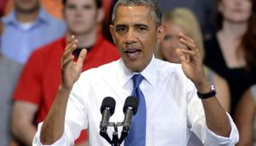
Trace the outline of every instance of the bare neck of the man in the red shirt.
{"type": "MultiPolygon", "coordinates": [[[[69,38],[72,35],[71,32],[68,32],[67,37],[69,38]]],[[[78,40],[77,47],[92,47],[97,41],[97,30],[93,30],[84,34],[74,34],[76,39],[78,40]]],[[[67,38],[67,40],[68,40],[67,38]]]]}

